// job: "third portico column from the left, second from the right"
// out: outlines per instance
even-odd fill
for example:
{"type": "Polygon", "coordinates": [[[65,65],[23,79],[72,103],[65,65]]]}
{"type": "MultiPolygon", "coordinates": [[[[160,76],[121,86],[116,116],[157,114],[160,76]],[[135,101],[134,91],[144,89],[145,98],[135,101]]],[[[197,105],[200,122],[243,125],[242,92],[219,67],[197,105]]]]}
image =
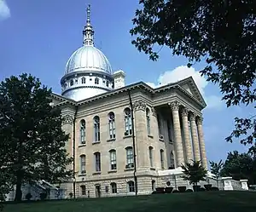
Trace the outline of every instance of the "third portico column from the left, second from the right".
{"type": "Polygon", "coordinates": [[[189,119],[190,119],[191,135],[192,135],[192,144],[193,144],[193,150],[194,150],[194,160],[200,161],[201,158],[200,158],[199,141],[197,137],[196,123],[195,123],[195,114],[191,112],[189,119]]]}

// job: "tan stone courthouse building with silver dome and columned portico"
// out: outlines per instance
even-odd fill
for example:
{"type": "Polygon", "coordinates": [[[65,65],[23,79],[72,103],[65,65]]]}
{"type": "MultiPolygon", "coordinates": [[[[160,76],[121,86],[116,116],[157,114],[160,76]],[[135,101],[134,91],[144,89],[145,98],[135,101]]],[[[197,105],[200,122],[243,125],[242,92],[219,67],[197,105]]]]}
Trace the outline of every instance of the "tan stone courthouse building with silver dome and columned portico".
{"type": "Polygon", "coordinates": [[[90,6],[83,37],[67,60],[61,95],[52,95],[74,158],[74,177],[61,184],[66,195],[73,186],[76,197],[133,195],[134,175],[138,194],[150,193],[170,186],[168,176],[180,174],[180,165],[191,159],[207,168],[206,103],[193,78],[156,89],[143,82],[126,85],[125,72],[113,72],[94,45],[90,6]]]}

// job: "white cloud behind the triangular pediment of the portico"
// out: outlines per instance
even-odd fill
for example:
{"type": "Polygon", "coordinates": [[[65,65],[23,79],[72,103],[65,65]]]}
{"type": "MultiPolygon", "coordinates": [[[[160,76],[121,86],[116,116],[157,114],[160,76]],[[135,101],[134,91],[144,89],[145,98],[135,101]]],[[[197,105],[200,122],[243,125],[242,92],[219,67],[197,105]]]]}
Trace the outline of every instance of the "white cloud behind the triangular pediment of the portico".
{"type": "Polygon", "coordinates": [[[193,77],[198,89],[201,92],[201,95],[207,102],[207,108],[220,109],[223,106],[221,97],[217,95],[205,95],[205,88],[207,87],[207,80],[205,77],[201,77],[199,72],[195,71],[195,68],[188,66],[178,66],[172,71],[164,72],[158,77],[157,84],[147,83],[152,88],[160,87],[167,83],[175,83],[179,80],[182,80],[187,77],[193,77]]]}

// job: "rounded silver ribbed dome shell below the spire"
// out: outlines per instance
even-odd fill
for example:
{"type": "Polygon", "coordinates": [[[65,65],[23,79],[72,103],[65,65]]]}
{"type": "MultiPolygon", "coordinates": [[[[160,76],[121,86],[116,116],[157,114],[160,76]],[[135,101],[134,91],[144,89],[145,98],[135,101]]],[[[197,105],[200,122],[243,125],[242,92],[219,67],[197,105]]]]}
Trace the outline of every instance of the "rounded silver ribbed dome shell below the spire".
{"type": "Polygon", "coordinates": [[[112,75],[112,69],[107,57],[101,50],[92,45],[84,45],[67,60],[65,74],[80,71],[104,72],[112,75]]]}

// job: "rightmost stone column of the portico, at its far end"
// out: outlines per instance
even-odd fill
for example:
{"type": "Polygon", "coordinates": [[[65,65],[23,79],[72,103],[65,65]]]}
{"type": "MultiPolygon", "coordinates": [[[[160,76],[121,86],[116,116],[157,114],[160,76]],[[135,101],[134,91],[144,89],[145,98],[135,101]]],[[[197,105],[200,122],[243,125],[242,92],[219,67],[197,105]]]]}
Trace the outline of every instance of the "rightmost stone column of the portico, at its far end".
{"type": "Polygon", "coordinates": [[[198,140],[199,140],[200,154],[201,154],[201,163],[207,169],[207,153],[206,153],[206,146],[205,146],[204,134],[202,129],[202,121],[203,121],[202,117],[198,117],[196,119],[197,133],[198,133],[198,140]]]}

